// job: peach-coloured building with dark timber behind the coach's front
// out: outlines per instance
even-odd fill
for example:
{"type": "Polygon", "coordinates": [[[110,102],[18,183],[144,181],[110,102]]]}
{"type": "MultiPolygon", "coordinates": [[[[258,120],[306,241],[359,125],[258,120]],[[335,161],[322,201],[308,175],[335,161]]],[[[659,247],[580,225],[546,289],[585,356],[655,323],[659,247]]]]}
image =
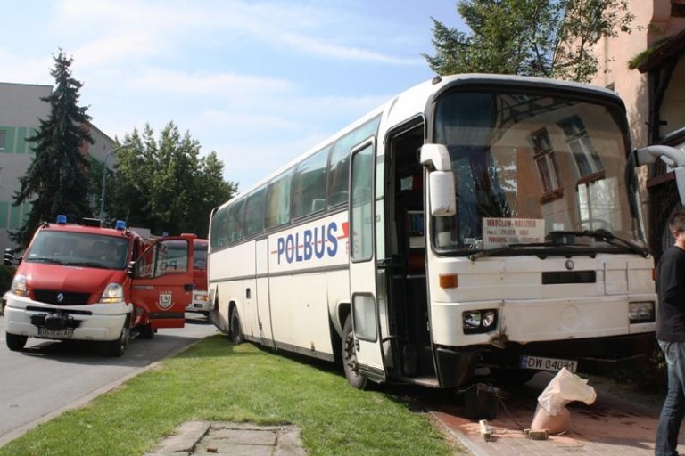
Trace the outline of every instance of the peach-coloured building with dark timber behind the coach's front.
{"type": "MultiPolygon", "coordinates": [[[[596,85],[614,89],[628,110],[633,147],[666,144],[685,151],[685,0],[629,0],[635,15],[630,34],[606,39],[596,49],[596,85]]],[[[650,248],[656,259],[673,243],[669,216],[681,208],[661,161],[641,175],[650,248]]]]}

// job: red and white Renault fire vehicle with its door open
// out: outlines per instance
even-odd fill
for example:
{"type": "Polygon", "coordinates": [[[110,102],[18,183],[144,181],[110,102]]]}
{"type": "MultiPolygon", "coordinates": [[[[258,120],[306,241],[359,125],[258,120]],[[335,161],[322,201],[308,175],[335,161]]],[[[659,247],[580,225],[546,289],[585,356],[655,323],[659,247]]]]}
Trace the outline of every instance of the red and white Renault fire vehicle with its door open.
{"type": "Polygon", "coordinates": [[[193,290],[193,239],[146,243],[123,221],[40,225],[12,280],[4,309],[6,342],[20,351],[31,338],[93,340],[110,356],[129,338],[183,328],[193,290]]]}

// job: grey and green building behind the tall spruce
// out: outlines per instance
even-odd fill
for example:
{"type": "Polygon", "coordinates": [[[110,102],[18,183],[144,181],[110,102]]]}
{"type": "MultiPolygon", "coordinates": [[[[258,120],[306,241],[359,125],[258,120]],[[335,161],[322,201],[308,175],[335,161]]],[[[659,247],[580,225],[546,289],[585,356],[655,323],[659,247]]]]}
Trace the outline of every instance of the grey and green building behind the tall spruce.
{"type": "MultiPolygon", "coordinates": [[[[40,119],[50,115],[50,104],[43,102],[52,93],[51,85],[0,83],[0,249],[16,248],[9,233],[17,230],[29,213],[29,203],[13,206],[13,195],[20,188],[34,157],[26,138],[36,133],[40,119]]],[[[95,142],[85,143],[84,155],[103,162],[115,142],[95,126],[89,126],[95,142]]],[[[108,166],[114,160],[108,161],[108,166]]]]}

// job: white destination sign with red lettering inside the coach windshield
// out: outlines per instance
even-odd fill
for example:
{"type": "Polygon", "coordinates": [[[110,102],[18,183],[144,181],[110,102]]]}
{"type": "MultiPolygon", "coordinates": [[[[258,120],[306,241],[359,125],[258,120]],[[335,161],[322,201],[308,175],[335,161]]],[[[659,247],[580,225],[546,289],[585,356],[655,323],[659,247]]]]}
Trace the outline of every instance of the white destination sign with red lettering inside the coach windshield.
{"type": "Polygon", "coordinates": [[[511,244],[544,242],[542,218],[483,217],[483,247],[498,248],[511,244]]]}

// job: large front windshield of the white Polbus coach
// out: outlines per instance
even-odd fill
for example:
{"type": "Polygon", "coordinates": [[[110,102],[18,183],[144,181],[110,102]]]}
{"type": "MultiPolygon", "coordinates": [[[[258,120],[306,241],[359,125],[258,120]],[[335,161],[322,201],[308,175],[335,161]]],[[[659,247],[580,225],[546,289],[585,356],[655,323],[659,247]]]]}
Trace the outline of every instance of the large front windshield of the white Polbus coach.
{"type": "Polygon", "coordinates": [[[443,94],[433,142],[450,152],[457,211],[433,218],[433,248],[646,252],[621,118],[618,106],[549,93],[443,94]]]}

